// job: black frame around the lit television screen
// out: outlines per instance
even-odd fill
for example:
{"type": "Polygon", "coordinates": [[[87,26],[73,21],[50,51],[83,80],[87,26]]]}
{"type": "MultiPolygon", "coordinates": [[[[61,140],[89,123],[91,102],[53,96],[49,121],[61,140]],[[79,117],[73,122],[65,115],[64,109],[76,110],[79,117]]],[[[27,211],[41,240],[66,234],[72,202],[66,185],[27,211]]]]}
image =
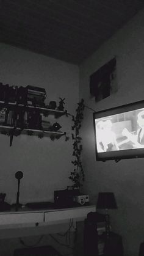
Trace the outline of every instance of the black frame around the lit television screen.
{"type": "Polygon", "coordinates": [[[109,117],[110,115],[122,114],[124,112],[134,111],[144,109],[144,100],[136,101],[129,104],[120,105],[114,108],[103,109],[101,111],[93,112],[93,125],[95,131],[95,153],[96,161],[107,161],[115,160],[116,162],[121,159],[130,158],[143,158],[144,157],[144,147],[143,148],[132,148],[128,150],[115,150],[111,152],[98,152],[96,144],[96,125],[95,119],[100,119],[103,117],[109,117]]]}

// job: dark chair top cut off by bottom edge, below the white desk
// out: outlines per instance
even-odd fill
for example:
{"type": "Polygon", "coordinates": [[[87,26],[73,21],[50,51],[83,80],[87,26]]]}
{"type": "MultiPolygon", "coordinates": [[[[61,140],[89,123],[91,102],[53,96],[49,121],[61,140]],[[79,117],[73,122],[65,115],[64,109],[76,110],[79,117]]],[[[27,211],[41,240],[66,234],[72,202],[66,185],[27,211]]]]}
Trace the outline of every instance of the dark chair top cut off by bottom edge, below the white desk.
{"type": "Polygon", "coordinates": [[[20,248],[14,251],[13,256],[61,256],[52,246],[20,248]]]}

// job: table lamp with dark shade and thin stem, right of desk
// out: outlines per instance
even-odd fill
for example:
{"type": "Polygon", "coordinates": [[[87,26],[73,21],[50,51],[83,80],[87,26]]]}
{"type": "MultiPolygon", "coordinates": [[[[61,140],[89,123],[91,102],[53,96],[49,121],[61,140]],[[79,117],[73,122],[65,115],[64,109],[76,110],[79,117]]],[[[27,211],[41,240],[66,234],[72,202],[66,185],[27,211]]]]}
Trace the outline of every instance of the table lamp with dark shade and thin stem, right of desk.
{"type": "Polygon", "coordinates": [[[96,208],[106,210],[106,233],[107,236],[109,236],[110,220],[108,210],[117,209],[117,203],[115,201],[115,196],[113,192],[99,192],[96,208]]]}

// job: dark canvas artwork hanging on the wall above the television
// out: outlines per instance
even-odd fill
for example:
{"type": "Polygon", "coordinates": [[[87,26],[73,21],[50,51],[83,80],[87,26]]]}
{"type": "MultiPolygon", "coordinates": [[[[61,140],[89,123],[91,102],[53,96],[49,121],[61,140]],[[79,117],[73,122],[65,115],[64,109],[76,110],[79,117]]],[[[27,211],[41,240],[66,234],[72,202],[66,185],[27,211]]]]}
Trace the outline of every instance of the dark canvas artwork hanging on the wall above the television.
{"type": "Polygon", "coordinates": [[[117,91],[116,64],[117,60],[113,58],[90,76],[90,95],[96,101],[117,91]]]}

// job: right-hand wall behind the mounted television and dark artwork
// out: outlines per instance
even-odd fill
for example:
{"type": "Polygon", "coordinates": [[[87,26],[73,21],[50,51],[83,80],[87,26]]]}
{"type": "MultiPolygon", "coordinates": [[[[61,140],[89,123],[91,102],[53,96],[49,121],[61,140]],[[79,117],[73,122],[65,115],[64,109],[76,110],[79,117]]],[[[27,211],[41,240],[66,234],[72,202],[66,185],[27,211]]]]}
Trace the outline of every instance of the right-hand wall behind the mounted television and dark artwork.
{"type": "MultiPolygon", "coordinates": [[[[99,111],[143,100],[144,97],[144,10],[104,43],[80,67],[80,98],[99,111]],[[89,76],[117,57],[118,92],[95,103],[90,97],[89,76]]],[[[85,108],[82,123],[84,191],[96,203],[99,191],[113,191],[118,210],[110,211],[113,231],[123,237],[126,256],[139,255],[144,240],[144,159],[96,162],[92,111],[85,108]]]]}

